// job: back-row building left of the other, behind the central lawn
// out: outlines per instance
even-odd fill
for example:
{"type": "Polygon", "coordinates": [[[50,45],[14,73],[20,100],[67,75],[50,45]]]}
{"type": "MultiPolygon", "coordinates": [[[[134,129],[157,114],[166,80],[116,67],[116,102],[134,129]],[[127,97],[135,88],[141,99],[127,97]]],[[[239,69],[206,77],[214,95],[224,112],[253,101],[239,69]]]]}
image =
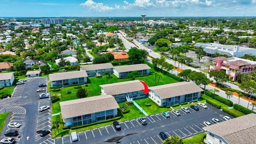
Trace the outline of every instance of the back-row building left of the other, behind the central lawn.
{"type": "Polygon", "coordinates": [[[113,68],[111,63],[80,66],[80,70],[85,70],[89,77],[105,75],[106,72],[113,74],[113,68]]]}

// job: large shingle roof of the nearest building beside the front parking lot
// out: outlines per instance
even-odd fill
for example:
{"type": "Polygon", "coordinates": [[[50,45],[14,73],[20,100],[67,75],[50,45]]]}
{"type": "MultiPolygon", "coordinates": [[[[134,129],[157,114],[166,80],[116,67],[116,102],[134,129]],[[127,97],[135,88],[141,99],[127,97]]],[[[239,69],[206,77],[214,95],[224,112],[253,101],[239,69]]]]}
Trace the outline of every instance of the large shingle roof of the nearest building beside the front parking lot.
{"type": "Polygon", "coordinates": [[[112,95],[99,95],[90,98],[60,102],[62,118],[70,118],[119,108],[112,95]]]}

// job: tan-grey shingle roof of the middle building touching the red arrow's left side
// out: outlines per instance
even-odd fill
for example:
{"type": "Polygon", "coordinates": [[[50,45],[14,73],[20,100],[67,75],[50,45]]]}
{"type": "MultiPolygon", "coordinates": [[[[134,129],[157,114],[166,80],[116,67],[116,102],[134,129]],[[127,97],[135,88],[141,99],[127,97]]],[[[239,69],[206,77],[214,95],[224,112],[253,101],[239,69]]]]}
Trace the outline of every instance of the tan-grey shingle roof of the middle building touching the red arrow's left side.
{"type": "Polygon", "coordinates": [[[143,84],[139,80],[105,84],[105,85],[100,85],[100,87],[102,87],[102,89],[107,94],[111,94],[111,95],[141,91],[144,89],[143,84]]]}

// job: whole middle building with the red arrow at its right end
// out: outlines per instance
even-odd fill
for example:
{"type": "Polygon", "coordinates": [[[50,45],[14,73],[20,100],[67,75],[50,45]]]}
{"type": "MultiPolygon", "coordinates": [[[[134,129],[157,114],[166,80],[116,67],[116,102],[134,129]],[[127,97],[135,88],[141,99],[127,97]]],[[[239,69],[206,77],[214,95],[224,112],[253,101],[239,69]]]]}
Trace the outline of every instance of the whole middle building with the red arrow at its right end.
{"type": "Polygon", "coordinates": [[[143,84],[139,80],[127,81],[121,83],[100,85],[101,94],[110,94],[115,97],[117,102],[124,102],[125,100],[134,100],[140,98],[146,98],[148,94],[145,94],[141,90],[145,89],[143,84]]]}

